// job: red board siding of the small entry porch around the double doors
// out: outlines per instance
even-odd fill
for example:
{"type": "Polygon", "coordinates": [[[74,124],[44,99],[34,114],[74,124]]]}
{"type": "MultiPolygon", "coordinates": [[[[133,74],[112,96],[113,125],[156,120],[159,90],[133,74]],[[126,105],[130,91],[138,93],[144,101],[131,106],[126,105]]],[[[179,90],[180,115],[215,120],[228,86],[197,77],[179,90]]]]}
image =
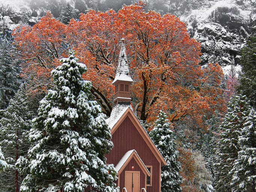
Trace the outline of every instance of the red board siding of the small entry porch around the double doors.
{"type": "Polygon", "coordinates": [[[137,164],[137,162],[133,158],[126,165],[126,167],[124,168],[124,170],[122,171],[122,173],[119,176],[119,179],[120,179],[120,191],[121,192],[123,191],[122,189],[125,187],[125,171],[140,171],[140,189],[145,187],[146,176],[143,173],[143,171],[141,170],[141,168],[139,167],[139,165],[137,164]],[[134,168],[132,168],[132,167],[134,167],[134,168]]]}

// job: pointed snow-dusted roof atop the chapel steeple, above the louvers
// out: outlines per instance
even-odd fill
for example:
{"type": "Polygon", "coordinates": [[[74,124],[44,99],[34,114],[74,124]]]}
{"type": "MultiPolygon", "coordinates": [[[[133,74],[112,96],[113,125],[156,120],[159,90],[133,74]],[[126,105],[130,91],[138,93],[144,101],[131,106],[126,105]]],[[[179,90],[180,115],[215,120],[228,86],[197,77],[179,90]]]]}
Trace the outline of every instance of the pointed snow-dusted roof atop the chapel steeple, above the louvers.
{"type": "Polygon", "coordinates": [[[116,77],[114,78],[112,84],[114,84],[117,80],[133,82],[133,79],[130,76],[129,65],[128,65],[127,56],[125,52],[126,50],[125,50],[124,39],[122,38],[121,41],[122,41],[122,45],[121,45],[121,50],[119,54],[116,77]]]}

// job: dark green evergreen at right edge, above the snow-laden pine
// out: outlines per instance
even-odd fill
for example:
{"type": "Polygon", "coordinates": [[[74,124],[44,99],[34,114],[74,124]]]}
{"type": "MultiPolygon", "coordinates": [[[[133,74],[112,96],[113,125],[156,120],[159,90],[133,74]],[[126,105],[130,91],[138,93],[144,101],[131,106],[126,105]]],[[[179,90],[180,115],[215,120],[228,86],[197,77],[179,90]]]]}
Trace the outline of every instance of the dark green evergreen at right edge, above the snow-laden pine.
{"type": "Polygon", "coordinates": [[[256,107],[256,21],[245,46],[241,49],[242,74],[238,91],[246,95],[252,106],[256,107]]]}

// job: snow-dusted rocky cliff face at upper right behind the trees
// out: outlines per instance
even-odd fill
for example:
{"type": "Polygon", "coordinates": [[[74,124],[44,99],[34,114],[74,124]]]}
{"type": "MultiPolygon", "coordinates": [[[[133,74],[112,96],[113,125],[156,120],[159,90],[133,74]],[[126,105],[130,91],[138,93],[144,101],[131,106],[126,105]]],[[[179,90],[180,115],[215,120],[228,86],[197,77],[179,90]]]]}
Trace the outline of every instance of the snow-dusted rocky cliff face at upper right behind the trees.
{"type": "Polygon", "coordinates": [[[152,9],[179,16],[187,23],[191,37],[201,42],[201,65],[207,62],[221,66],[239,64],[239,50],[248,36],[251,20],[256,18],[256,0],[161,2],[149,1],[152,9]]]}

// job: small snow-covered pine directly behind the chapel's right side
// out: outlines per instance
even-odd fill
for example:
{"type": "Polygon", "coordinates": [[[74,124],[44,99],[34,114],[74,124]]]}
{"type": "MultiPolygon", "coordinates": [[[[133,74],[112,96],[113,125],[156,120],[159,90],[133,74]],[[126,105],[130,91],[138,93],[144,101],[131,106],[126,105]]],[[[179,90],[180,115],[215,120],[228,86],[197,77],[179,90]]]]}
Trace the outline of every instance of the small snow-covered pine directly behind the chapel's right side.
{"type": "Polygon", "coordinates": [[[179,152],[176,150],[174,133],[170,129],[166,113],[160,111],[157,118],[149,136],[167,162],[167,165],[161,167],[161,192],[181,192],[181,164],[178,161],[179,152]]]}

